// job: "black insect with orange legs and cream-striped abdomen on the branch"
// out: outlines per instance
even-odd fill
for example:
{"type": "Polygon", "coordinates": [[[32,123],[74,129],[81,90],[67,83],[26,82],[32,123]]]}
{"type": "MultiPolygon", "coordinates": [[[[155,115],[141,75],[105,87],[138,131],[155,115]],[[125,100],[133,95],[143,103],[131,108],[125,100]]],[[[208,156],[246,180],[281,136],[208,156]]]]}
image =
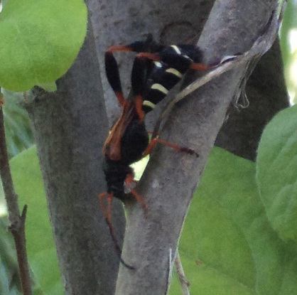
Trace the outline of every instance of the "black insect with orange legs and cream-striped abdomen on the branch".
{"type": "MultiPolygon", "coordinates": [[[[119,256],[121,250],[114,236],[111,223],[112,198],[124,200],[124,184],[126,184],[136,200],[142,203],[144,210],[147,210],[146,202],[131,186],[131,183],[134,182],[134,171],[130,167],[131,163],[139,161],[147,154],[150,154],[157,142],[171,146],[176,151],[195,154],[195,151],[191,149],[176,146],[156,137],[149,141],[144,117],[158,102],[166,97],[168,91],[180,82],[188,70],[207,70],[211,68],[199,63],[200,60],[201,53],[195,45],[164,46],[154,42],[151,35],[148,36],[146,41],[113,46],[105,53],[107,80],[112,86],[119,104],[121,104],[122,112],[104,144],[103,154],[105,159],[103,169],[107,181],[107,192],[101,193],[99,200],[119,256]],[[119,68],[113,55],[114,51],[138,53],[131,71],[131,92],[126,100],[121,89],[119,68]],[[107,197],[107,207],[104,205],[105,197],[107,197]]],[[[121,262],[126,267],[131,268],[122,259],[121,262]]]]}

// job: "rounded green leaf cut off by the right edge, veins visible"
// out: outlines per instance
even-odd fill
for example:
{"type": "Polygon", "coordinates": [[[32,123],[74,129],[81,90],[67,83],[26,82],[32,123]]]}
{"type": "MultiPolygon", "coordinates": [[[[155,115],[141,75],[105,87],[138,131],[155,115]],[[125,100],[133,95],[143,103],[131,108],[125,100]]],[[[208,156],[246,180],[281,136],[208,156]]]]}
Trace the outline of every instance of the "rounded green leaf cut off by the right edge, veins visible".
{"type": "Polygon", "coordinates": [[[266,214],[286,241],[297,241],[297,105],[279,112],[261,137],[257,181],[266,214]]]}

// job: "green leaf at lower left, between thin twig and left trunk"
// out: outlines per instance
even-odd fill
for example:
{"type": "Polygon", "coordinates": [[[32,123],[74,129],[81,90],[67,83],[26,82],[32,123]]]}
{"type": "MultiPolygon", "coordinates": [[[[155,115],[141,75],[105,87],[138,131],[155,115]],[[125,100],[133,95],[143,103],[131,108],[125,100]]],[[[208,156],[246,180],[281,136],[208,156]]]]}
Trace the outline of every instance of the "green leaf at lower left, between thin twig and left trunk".
{"type": "Polygon", "coordinates": [[[23,151],[11,160],[11,173],[20,207],[28,205],[26,241],[28,259],[43,291],[63,294],[48,206],[36,155],[36,148],[23,151]]]}

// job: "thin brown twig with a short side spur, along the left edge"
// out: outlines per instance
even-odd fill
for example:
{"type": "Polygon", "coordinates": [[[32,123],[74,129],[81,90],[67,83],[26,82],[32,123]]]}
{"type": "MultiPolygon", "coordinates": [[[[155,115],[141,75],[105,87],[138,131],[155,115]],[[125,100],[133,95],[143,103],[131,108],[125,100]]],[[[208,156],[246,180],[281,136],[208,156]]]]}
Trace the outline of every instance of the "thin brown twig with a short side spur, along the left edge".
{"type": "MultiPolygon", "coordinates": [[[[0,101],[3,101],[1,98],[0,101]]],[[[13,235],[16,244],[16,254],[18,257],[18,268],[20,270],[21,286],[23,295],[32,295],[32,286],[26,253],[25,238],[25,220],[27,206],[23,208],[21,216],[19,215],[18,196],[13,188],[13,181],[9,167],[9,156],[6,148],[4,114],[2,104],[0,104],[0,176],[4,189],[7,209],[9,211],[9,230],[13,235]]]]}

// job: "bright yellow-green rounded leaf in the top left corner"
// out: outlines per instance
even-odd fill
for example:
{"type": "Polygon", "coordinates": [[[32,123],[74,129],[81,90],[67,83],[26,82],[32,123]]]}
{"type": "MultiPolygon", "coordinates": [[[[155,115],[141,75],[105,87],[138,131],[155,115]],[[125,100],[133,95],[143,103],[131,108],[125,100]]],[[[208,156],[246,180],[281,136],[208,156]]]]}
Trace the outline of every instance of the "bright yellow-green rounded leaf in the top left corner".
{"type": "Polygon", "coordinates": [[[0,14],[0,86],[25,91],[65,74],[87,30],[82,0],[10,0],[0,14]]]}

